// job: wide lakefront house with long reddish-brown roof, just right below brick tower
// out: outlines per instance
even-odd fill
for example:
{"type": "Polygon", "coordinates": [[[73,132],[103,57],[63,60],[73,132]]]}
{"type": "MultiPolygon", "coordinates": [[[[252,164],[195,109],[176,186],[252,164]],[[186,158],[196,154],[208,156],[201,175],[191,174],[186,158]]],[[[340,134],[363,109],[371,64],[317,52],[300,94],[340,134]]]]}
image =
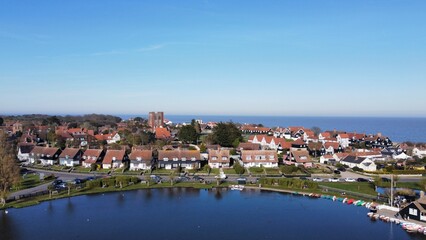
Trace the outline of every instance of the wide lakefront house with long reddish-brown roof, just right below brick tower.
{"type": "Polygon", "coordinates": [[[201,167],[201,154],[198,150],[160,150],[158,151],[158,166],[165,169],[182,167],[186,169],[199,169],[201,167]]]}

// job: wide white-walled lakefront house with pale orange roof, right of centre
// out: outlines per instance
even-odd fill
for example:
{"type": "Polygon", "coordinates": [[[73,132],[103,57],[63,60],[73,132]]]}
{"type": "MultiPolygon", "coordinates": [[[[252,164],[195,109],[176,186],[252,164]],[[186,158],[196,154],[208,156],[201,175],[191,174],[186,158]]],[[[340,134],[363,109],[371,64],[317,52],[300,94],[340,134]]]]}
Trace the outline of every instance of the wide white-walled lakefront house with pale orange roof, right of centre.
{"type": "Polygon", "coordinates": [[[275,150],[242,150],[241,161],[244,167],[278,167],[277,151],[275,150]]]}

